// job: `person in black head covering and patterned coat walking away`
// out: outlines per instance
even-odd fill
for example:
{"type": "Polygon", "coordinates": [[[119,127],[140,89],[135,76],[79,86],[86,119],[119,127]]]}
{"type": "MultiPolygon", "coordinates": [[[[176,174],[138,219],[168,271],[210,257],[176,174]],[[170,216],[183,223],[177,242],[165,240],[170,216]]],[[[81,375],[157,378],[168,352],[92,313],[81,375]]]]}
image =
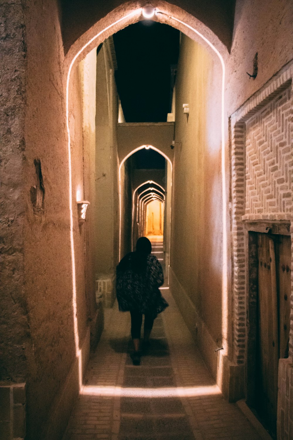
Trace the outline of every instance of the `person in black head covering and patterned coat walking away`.
{"type": "Polygon", "coordinates": [[[147,346],[154,319],[168,306],[159,290],[159,286],[164,282],[163,269],[157,257],[151,255],[151,252],[152,244],[148,238],[138,238],[136,251],[125,255],[116,270],[119,310],[130,312],[131,316],[134,365],[140,364],[142,315],[145,315],[144,345],[147,346]]]}

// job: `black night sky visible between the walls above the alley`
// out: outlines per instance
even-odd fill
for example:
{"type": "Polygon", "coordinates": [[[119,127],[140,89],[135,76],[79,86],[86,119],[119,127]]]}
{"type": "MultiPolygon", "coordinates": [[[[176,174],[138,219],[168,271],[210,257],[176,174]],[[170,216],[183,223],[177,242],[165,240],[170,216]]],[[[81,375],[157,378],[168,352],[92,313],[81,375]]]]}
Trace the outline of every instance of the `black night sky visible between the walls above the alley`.
{"type": "Polygon", "coordinates": [[[118,93],[126,122],[164,122],[170,112],[171,66],[179,31],[144,20],[113,35],[118,93]]]}

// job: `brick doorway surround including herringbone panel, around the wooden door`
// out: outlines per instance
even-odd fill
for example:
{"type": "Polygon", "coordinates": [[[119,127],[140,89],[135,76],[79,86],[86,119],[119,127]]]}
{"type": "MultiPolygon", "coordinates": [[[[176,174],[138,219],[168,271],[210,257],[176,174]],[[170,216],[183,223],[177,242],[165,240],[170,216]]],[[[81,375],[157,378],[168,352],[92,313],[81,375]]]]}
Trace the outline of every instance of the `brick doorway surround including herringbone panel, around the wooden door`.
{"type": "MultiPolygon", "coordinates": [[[[243,220],[292,218],[292,77],[290,62],[231,117],[234,361],[239,364],[246,359],[248,295],[243,220]]],[[[293,249],[292,223],[291,237],[293,249]]],[[[293,289],[291,307],[293,316],[293,289]]],[[[292,356],[293,319],[289,352],[292,356]]]]}

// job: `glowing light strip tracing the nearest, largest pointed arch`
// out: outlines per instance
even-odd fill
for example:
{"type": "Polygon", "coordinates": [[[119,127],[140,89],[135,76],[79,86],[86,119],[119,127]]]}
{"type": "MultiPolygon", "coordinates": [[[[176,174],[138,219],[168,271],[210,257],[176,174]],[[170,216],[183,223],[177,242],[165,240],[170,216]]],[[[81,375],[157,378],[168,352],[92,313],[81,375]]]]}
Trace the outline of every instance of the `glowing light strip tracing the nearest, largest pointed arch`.
{"type": "MultiPolygon", "coordinates": [[[[66,81],[66,129],[68,134],[68,171],[69,171],[69,216],[70,216],[70,246],[71,246],[71,260],[72,260],[72,306],[73,306],[73,325],[74,325],[74,338],[76,346],[76,357],[78,358],[79,364],[79,388],[82,388],[82,361],[81,361],[81,350],[80,341],[78,335],[78,322],[77,322],[77,304],[76,304],[76,269],[75,269],[75,253],[74,253],[74,238],[73,238],[73,210],[72,210],[72,159],[71,159],[71,139],[70,139],[70,129],[69,129],[69,80],[72,66],[76,59],[81,55],[81,53],[100,37],[107,30],[118,25],[120,22],[126,21],[136,15],[141,15],[142,8],[139,7],[129,14],[124,15],[115,22],[112,22],[109,26],[106,26],[100,32],[98,32],[94,37],[90,38],[83,47],[77,51],[76,55],[72,58],[72,61],[68,68],[67,81],[66,81]]],[[[221,53],[217,48],[208,40],[202,33],[188,25],[187,23],[181,21],[180,19],[165,13],[164,11],[159,11],[156,8],[156,15],[163,14],[174,22],[181,23],[181,25],[190,29],[193,33],[203,39],[210,46],[210,48],[215,52],[217,57],[220,59],[222,67],[222,91],[221,91],[221,174],[222,174],[222,221],[223,221],[223,251],[222,251],[222,337],[223,337],[223,351],[221,355],[227,355],[227,339],[228,339],[228,274],[227,274],[227,198],[226,198],[226,181],[225,181],[225,132],[224,132],[224,86],[225,86],[225,65],[221,53]]],[[[172,25],[170,25],[172,26],[172,25]]],[[[221,381],[221,378],[220,378],[221,381]]]]}

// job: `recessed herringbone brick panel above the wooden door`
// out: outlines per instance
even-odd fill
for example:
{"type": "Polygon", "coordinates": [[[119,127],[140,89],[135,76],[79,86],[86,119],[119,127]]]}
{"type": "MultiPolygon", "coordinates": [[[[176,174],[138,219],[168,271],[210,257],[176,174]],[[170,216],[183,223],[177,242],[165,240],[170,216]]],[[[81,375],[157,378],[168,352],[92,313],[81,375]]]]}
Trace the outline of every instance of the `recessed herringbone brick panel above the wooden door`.
{"type": "Polygon", "coordinates": [[[246,123],[246,214],[292,210],[290,92],[282,91],[246,123]]]}

